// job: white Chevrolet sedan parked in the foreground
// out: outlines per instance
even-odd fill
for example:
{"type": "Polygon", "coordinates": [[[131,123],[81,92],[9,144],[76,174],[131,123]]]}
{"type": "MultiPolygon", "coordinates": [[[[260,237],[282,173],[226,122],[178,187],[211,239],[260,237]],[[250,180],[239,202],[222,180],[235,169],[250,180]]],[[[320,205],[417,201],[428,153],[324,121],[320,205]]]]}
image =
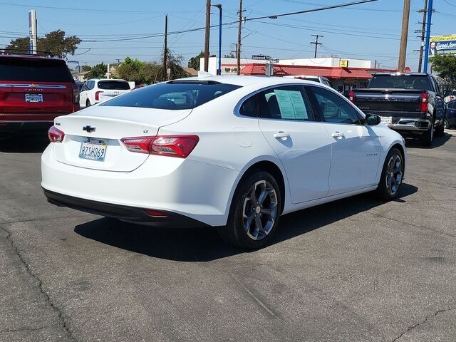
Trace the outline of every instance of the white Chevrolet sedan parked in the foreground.
{"type": "Polygon", "coordinates": [[[205,76],[58,117],[41,160],[48,201],[150,225],[270,242],[281,214],[377,190],[405,172],[398,133],[327,86],[205,76]]]}

